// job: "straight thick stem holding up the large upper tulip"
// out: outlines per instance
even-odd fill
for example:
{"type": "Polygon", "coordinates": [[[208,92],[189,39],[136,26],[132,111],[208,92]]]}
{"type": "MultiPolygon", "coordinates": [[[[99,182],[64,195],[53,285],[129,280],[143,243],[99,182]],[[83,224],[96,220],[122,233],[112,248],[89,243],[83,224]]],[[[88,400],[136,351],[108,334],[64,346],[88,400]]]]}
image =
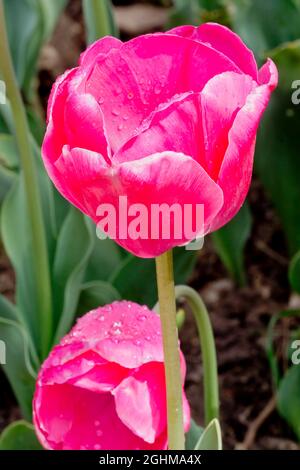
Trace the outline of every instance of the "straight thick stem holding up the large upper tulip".
{"type": "Polygon", "coordinates": [[[168,443],[170,450],[183,450],[182,379],[176,326],[172,251],[156,258],[156,276],[167,389],[168,443]]]}

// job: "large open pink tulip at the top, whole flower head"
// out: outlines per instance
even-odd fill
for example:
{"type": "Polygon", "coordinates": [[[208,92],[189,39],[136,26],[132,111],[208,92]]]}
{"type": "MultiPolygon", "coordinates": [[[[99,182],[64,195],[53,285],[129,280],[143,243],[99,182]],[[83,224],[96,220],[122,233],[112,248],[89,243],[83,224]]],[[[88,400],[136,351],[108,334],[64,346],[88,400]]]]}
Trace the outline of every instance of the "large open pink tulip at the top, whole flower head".
{"type": "MultiPolygon", "coordinates": [[[[47,171],[96,223],[100,204],[118,213],[125,195],[149,214],[153,204],[202,204],[206,234],[245,200],[259,120],[276,84],[274,63],[258,70],[241,39],[218,24],[126,43],[105,37],[53,87],[43,143],[47,171]]],[[[135,240],[118,228],[107,232],[142,257],[190,241],[173,232],[135,240]]]]}

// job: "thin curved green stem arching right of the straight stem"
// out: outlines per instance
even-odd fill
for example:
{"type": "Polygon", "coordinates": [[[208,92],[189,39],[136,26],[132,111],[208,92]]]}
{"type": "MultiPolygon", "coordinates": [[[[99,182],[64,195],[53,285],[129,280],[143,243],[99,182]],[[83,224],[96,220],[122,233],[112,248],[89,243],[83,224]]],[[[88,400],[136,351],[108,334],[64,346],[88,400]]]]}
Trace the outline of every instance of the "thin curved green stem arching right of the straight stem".
{"type": "Polygon", "coordinates": [[[217,354],[212,326],[207,309],[199,294],[188,286],[175,287],[176,298],[184,297],[197,324],[203,361],[205,424],[219,418],[219,386],[217,354]]]}

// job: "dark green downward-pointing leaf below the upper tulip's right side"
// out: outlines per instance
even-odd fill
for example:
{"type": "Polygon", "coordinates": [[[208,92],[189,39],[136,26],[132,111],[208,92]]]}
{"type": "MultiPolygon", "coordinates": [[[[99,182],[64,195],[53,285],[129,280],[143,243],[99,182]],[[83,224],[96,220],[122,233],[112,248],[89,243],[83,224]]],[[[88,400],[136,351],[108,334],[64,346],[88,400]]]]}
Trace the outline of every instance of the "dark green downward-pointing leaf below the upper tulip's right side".
{"type": "Polygon", "coordinates": [[[251,233],[251,213],[245,203],[238,214],[220,230],[212,234],[215,248],[233,279],[244,285],[244,250],[251,233]]]}

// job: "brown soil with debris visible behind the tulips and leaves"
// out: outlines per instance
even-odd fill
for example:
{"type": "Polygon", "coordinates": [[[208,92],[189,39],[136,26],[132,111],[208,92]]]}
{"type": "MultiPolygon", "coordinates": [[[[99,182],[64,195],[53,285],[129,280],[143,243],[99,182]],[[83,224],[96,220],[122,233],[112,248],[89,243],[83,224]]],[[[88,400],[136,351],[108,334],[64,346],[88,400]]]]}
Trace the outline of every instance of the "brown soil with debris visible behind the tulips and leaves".
{"type": "MultiPolygon", "coordinates": [[[[152,3],[151,7],[155,5],[157,9],[157,23],[153,23],[155,15],[153,12],[151,24],[143,27],[146,32],[161,27],[165,9],[158,8],[159,2],[116,1],[114,3],[119,8],[117,18],[122,26],[122,38],[128,39],[134,35],[132,22],[126,28],[124,21],[126,5],[129,5],[128,8],[133,8],[132,14],[137,14],[136,7],[141,8],[142,5],[146,5],[148,8],[147,3],[152,3]],[[123,14],[120,8],[123,8],[123,14]]],[[[170,2],[165,1],[165,5],[169,8],[170,2]]],[[[140,32],[143,31],[137,33],[140,32]]],[[[41,55],[39,94],[44,107],[55,77],[76,64],[84,47],[80,2],[72,0],[53,38],[41,55]]],[[[202,295],[214,328],[225,448],[297,449],[299,447],[295,436],[279,417],[273,405],[265,340],[271,316],[286,308],[291,301],[299,303],[299,299],[293,297],[291,300],[287,280],[288,255],[280,223],[255,178],[248,200],[254,223],[245,253],[246,286],[238,287],[230,279],[209,238],[199,253],[190,285],[202,295]],[[268,416],[264,417],[264,414],[268,416]],[[261,423],[257,422],[257,417],[261,423]],[[249,432],[253,435],[250,436],[249,432]],[[245,440],[246,436],[248,437],[245,440]]],[[[14,276],[3,251],[0,255],[0,292],[10,299],[13,298],[14,276]]],[[[285,323],[280,326],[279,349],[283,348],[288,327],[285,323]]],[[[188,366],[187,395],[193,417],[201,424],[203,422],[202,364],[197,333],[190,315],[187,316],[181,331],[181,342],[188,366]]],[[[1,431],[5,425],[19,417],[17,404],[2,373],[0,373],[0,404],[1,431]]]]}

